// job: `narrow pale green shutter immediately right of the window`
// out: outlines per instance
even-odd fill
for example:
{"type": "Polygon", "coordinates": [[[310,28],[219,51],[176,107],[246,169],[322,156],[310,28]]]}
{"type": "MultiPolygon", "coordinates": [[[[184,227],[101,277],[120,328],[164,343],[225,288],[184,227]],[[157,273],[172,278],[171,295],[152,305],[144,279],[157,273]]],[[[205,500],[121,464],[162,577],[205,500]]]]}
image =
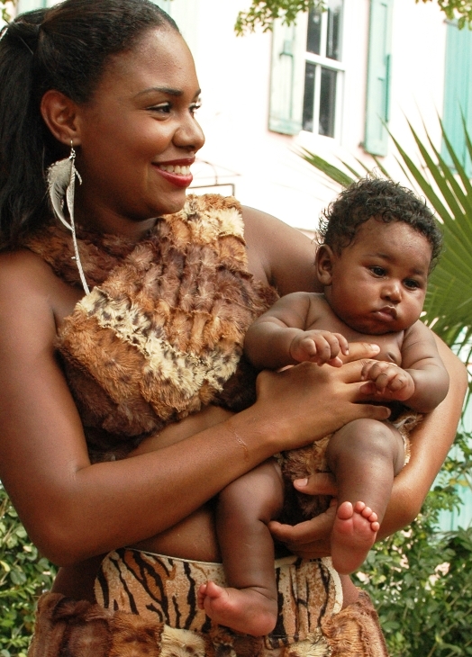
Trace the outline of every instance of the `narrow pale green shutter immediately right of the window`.
{"type": "Polygon", "coordinates": [[[364,148],[373,155],[386,155],[388,148],[393,6],[394,0],[370,0],[364,148]]]}

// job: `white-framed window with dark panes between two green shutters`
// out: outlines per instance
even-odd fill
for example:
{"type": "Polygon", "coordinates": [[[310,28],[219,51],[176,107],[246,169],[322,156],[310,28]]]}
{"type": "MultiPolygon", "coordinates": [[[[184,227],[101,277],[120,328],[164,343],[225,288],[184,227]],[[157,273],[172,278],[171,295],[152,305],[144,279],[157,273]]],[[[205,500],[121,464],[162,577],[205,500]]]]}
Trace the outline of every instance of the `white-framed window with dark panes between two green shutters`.
{"type": "Polygon", "coordinates": [[[342,83],[342,0],[330,0],[327,11],[308,14],[304,67],[304,130],[335,137],[342,83]]]}

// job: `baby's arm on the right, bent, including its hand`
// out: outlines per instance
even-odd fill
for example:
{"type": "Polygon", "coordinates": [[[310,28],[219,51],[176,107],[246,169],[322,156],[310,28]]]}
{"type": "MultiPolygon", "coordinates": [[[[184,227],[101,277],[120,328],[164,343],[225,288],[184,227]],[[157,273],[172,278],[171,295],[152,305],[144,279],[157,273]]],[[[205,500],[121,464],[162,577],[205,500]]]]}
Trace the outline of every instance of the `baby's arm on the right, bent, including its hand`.
{"type": "Polygon", "coordinates": [[[405,401],[410,409],[422,413],[435,409],[449,390],[449,375],[431,330],[422,321],[405,332],[402,367],[369,361],[362,378],[372,382],[362,392],[377,392],[383,400],[405,401]]]}

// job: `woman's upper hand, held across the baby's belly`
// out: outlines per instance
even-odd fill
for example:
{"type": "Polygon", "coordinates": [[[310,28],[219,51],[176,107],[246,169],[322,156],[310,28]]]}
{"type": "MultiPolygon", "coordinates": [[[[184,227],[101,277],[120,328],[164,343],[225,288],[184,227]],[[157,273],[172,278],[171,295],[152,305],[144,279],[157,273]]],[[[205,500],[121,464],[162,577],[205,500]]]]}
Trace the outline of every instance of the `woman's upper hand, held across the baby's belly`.
{"type": "Polygon", "coordinates": [[[261,372],[254,410],[273,418],[276,451],[307,445],[359,418],[387,419],[390,410],[362,403],[366,359],[379,347],[354,343],[340,368],[302,363],[283,372],[261,372]]]}

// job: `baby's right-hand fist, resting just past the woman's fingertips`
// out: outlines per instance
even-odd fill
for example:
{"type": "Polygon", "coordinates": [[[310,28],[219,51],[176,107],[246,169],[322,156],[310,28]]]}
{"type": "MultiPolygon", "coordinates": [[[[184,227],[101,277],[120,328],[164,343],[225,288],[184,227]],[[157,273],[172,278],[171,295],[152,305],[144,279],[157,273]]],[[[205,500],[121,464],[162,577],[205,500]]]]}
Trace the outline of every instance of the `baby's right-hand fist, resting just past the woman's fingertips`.
{"type": "Polygon", "coordinates": [[[414,392],[411,374],[395,363],[384,361],[367,361],[362,368],[362,381],[368,381],[360,392],[375,394],[388,400],[406,401],[414,392]]]}

